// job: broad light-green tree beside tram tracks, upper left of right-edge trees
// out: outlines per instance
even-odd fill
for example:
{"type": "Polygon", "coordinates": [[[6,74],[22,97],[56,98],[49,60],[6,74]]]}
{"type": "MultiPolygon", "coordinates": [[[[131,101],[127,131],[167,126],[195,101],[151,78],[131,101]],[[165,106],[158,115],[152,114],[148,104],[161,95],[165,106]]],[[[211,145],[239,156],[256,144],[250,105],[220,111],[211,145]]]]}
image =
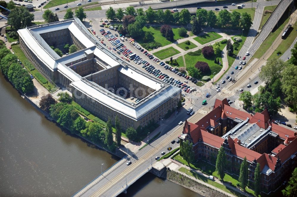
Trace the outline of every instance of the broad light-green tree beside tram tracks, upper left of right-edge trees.
{"type": "Polygon", "coordinates": [[[274,82],[275,79],[281,79],[282,70],[285,68],[283,60],[274,57],[266,62],[266,65],[262,67],[259,74],[259,78],[266,84],[274,82]]]}

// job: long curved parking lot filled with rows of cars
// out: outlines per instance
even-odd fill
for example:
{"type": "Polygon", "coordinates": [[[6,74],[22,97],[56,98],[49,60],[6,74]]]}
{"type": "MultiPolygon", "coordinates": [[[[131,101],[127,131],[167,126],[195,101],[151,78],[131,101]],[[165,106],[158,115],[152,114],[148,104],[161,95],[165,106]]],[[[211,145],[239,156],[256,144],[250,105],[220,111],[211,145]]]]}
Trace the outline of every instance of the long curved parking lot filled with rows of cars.
{"type": "Polygon", "coordinates": [[[149,51],[147,51],[146,49],[142,49],[142,47],[138,45],[133,39],[124,38],[119,32],[102,26],[98,28],[94,27],[94,29],[93,27],[91,27],[90,30],[93,31],[93,34],[95,31],[94,36],[96,36],[99,42],[105,45],[105,47],[107,47],[114,54],[119,56],[119,58],[122,58],[124,61],[129,62],[130,64],[138,67],[144,72],[149,72],[150,74],[158,77],[164,82],[172,85],[175,84],[181,89],[189,89],[188,92],[191,92],[192,90],[201,90],[200,87],[195,85],[190,80],[190,76],[188,76],[187,78],[185,78],[186,75],[182,76],[182,74],[180,74],[181,76],[178,76],[178,71],[173,72],[174,67],[167,65],[165,62],[162,63],[161,60],[152,56],[149,51]],[[160,63],[162,63],[162,66],[160,65],[160,63]]]}

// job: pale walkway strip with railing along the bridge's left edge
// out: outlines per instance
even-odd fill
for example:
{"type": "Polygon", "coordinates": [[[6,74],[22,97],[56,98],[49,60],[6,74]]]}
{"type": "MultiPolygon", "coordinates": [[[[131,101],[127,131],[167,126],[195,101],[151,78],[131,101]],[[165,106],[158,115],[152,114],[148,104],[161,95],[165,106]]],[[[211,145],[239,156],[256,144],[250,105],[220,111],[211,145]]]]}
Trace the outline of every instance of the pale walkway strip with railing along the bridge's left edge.
{"type": "Polygon", "coordinates": [[[125,163],[126,162],[126,157],[127,157],[127,155],[124,156],[123,158],[121,158],[121,160],[119,160],[118,162],[116,162],[112,166],[110,166],[107,170],[105,170],[104,172],[102,172],[102,174],[100,174],[94,180],[92,180],[87,185],[85,185],[83,188],[81,188],[80,190],[78,190],[78,192],[76,192],[75,194],[73,194],[72,197],[81,196],[83,193],[85,193],[87,190],[89,190],[91,187],[93,187],[95,184],[97,184],[100,180],[102,180],[104,178],[104,176],[107,176],[108,174],[110,174],[110,172],[112,172],[117,167],[119,167],[120,165],[122,165],[123,163],[125,163]]]}

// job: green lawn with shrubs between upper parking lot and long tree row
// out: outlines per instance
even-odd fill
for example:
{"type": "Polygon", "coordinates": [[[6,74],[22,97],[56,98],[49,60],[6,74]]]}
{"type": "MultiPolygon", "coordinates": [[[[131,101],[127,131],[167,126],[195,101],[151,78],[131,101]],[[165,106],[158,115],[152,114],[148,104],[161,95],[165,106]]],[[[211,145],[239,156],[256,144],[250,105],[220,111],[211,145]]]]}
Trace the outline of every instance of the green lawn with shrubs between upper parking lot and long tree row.
{"type": "MultiPolygon", "coordinates": [[[[153,36],[154,36],[154,40],[152,42],[159,42],[162,47],[168,45],[168,44],[171,44],[172,42],[167,40],[165,37],[162,36],[161,32],[160,32],[160,27],[143,27],[142,29],[143,31],[150,31],[153,36]]],[[[181,36],[178,35],[178,28],[172,28],[172,31],[173,31],[173,39],[177,40],[177,39],[180,39],[182,38],[181,36]]],[[[144,34],[143,34],[144,35],[144,34]]],[[[143,37],[140,37],[138,39],[136,39],[136,41],[141,45],[141,44],[145,44],[143,42],[143,37]]]]}

